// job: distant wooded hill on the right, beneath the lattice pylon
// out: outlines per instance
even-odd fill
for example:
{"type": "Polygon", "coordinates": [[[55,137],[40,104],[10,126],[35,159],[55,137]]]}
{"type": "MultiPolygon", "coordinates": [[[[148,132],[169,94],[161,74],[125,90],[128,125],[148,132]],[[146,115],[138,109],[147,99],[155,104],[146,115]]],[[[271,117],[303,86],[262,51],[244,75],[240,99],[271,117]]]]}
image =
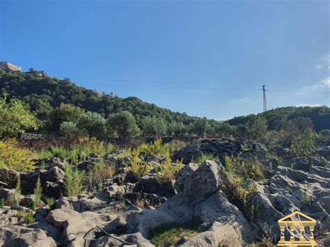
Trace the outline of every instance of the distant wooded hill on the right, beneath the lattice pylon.
{"type": "Polygon", "coordinates": [[[271,130],[280,130],[283,125],[294,118],[310,118],[317,132],[320,132],[322,129],[330,129],[330,108],[327,106],[281,107],[257,115],[239,116],[226,122],[230,125],[245,125],[247,122],[256,118],[256,116],[266,118],[268,129],[271,130]]]}

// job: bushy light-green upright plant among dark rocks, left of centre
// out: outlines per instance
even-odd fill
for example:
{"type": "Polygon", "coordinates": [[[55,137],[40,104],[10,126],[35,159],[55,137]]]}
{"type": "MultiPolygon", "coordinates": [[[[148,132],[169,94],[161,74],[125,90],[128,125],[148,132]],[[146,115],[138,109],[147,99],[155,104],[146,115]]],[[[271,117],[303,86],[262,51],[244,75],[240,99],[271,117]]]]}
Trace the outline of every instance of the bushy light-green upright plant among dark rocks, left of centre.
{"type": "Polygon", "coordinates": [[[65,166],[65,187],[67,196],[77,196],[83,190],[84,170],[79,171],[72,165],[65,166]]]}

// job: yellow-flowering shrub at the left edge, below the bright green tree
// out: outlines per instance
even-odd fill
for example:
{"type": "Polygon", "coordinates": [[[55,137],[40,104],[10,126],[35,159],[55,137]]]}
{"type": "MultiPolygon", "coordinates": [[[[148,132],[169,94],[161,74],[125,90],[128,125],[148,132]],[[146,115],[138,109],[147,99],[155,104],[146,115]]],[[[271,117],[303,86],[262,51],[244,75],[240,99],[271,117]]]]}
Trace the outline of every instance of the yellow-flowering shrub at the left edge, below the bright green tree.
{"type": "Polygon", "coordinates": [[[28,172],[34,169],[33,153],[28,148],[19,148],[15,139],[0,141],[0,167],[28,172]]]}

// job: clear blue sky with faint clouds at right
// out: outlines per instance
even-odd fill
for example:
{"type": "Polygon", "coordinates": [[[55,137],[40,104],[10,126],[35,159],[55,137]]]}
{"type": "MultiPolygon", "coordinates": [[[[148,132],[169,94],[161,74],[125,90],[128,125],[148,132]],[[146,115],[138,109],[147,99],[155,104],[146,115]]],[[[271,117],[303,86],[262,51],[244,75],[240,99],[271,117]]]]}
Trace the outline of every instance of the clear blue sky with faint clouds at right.
{"type": "Polygon", "coordinates": [[[330,105],[329,1],[0,2],[0,61],[216,120],[330,105]]]}

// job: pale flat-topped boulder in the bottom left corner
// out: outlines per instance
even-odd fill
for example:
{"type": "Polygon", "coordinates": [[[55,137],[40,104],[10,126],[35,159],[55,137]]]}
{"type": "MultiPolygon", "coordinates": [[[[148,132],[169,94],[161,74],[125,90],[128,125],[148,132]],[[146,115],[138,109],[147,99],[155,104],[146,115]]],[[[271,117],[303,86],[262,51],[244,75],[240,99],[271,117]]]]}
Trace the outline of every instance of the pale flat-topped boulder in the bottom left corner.
{"type": "Polygon", "coordinates": [[[4,247],[56,247],[54,239],[47,237],[41,229],[24,228],[19,225],[11,225],[0,228],[0,246],[4,247]]]}

